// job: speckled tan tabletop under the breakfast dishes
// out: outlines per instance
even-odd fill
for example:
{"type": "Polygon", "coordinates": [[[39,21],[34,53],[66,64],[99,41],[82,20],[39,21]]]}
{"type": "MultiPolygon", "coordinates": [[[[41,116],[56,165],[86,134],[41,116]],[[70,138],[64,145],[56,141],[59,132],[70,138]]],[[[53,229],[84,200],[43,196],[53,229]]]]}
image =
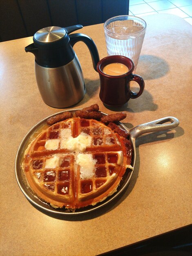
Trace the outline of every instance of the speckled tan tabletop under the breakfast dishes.
{"type": "MultiPolygon", "coordinates": [[[[1,255],[96,255],[192,223],[192,26],[174,15],[144,19],[147,30],[136,70],[145,80],[141,97],[121,108],[105,108],[89,51],[77,43],[87,93],[72,108],[98,103],[103,112],[125,110],[128,128],[167,116],[180,124],[139,137],[125,192],[98,211],[79,216],[43,213],[20,191],[14,166],[20,142],[32,126],[60,110],[40,97],[34,56],[24,50],[32,37],[0,43],[1,255]]],[[[106,56],[102,24],[79,32],[94,40],[100,58],[106,56]]]]}

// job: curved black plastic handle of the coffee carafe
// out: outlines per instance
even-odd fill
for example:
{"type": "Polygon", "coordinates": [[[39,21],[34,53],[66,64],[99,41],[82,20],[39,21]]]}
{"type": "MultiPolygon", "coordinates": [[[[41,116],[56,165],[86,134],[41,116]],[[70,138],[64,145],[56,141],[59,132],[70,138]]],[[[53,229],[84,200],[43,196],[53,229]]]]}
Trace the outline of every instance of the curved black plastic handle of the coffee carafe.
{"type": "Polygon", "coordinates": [[[82,41],[87,45],[87,47],[89,48],[89,52],[92,56],[92,63],[93,63],[94,70],[97,72],[97,63],[99,62],[99,54],[98,54],[97,47],[94,41],[92,40],[92,38],[81,33],[71,34],[69,35],[69,38],[70,38],[69,42],[72,47],[74,47],[74,44],[79,41],[82,41]]]}

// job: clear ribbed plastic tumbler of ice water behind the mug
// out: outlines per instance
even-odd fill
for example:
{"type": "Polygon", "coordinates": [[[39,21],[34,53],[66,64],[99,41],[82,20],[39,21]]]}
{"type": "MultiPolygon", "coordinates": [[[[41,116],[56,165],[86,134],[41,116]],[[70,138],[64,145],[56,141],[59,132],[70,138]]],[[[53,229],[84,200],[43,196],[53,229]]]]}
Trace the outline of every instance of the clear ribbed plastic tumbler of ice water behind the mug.
{"type": "Polygon", "coordinates": [[[130,15],[121,15],[105,21],[107,54],[123,55],[134,62],[136,70],[146,30],[145,20],[130,15]]]}

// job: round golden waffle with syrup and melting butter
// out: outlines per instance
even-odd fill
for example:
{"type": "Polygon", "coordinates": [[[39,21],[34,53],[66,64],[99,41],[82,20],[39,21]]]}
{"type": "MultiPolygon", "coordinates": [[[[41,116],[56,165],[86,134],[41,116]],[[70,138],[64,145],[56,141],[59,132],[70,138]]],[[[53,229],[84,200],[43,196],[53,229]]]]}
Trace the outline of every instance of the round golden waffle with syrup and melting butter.
{"type": "Polygon", "coordinates": [[[74,211],[116,192],[126,168],[132,168],[125,140],[94,119],[69,118],[33,139],[22,169],[39,198],[74,211]]]}

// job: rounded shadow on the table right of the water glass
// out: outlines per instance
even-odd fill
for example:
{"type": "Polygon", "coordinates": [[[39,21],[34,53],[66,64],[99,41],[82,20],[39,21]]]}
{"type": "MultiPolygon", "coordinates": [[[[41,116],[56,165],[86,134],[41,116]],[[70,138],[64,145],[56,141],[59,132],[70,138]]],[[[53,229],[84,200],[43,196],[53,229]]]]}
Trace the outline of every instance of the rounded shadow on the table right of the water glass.
{"type": "MultiPolygon", "coordinates": [[[[138,68],[139,75],[145,80],[158,79],[165,76],[170,70],[165,60],[154,55],[141,55],[139,58],[138,68]]],[[[137,73],[137,70],[136,70],[137,73]]]]}

